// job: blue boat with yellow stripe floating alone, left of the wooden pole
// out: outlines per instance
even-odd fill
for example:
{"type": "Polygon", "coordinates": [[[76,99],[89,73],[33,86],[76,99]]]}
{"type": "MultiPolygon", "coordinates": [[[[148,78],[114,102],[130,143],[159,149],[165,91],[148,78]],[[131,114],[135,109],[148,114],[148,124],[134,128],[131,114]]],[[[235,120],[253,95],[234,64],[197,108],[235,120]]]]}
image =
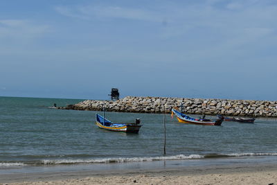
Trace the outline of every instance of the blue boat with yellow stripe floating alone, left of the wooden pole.
{"type": "Polygon", "coordinates": [[[139,129],[141,128],[139,119],[136,119],[136,123],[112,123],[99,114],[96,114],[96,125],[105,130],[127,133],[139,133],[139,129]]]}

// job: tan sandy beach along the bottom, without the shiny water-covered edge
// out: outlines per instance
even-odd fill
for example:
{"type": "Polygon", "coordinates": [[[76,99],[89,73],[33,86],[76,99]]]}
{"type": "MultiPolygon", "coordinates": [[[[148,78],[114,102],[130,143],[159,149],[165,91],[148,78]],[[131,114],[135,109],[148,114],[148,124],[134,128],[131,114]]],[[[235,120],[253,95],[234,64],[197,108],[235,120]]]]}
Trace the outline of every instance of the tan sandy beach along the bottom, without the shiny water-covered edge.
{"type": "Polygon", "coordinates": [[[276,165],[1,175],[3,184],[277,184],[276,165]]]}

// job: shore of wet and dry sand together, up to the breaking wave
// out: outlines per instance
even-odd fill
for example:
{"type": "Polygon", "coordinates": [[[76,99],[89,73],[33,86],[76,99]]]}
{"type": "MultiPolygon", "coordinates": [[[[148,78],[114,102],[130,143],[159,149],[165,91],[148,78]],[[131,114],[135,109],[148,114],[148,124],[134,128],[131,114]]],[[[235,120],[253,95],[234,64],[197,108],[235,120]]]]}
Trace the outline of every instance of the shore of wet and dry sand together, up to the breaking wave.
{"type": "MultiPolygon", "coordinates": [[[[270,157],[269,157],[270,158],[270,157]]],[[[109,169],[89,169],[86,165],[71,166],[72,169],[33,173],[1,174],[3,184],[270,184],[277,183],[276,157],[268,161],[260,158],[200,159],[199,160],[150,162],[160,166],[132,168],[111,165],[109,169]],[[219,161],[220,160],[220,161],[219,161]],[[229,161],[229,162],[227,162],[229,161]],[[163,164],[164,163],[164,164],[163,164]],[[189,164],[191,163],[191,164],[189,164]],[[193,165],[196,163],[196,165],[193,165]],[[182,166],[181,164],[184,164],[182,166]],[[115,168],[118,166],[118,168],[115,168]]],[[[69,167],[69,166],[67,166],[69,167]]],[[[89,167],[89,166],[87,166],[89,167]]],[[[95,166],[94,166],[95,167],[95,166]]]]}

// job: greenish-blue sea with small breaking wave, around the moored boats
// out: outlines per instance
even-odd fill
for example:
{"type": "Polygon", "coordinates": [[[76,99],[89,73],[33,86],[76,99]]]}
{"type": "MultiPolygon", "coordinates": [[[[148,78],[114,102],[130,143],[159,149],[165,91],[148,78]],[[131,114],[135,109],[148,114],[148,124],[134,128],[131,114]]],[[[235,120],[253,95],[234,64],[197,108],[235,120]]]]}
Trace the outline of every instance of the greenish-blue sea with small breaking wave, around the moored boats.
{"type": "Polygon", "coordinates": [[[139,134],[126,134],[97,127],[102,112],[53,108],[81,101],[0,97],[0,174],[277,161],[276,118],[206,126],[170,114],[105,112],[113,122],[141,119],[139,134]]]}

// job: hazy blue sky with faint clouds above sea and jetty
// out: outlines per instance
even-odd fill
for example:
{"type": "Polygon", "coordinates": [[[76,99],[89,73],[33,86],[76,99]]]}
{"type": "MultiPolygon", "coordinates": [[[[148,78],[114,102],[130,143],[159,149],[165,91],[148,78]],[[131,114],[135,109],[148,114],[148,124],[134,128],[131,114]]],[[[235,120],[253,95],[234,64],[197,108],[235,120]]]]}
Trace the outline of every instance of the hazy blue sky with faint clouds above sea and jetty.
{"type": "Polygon", "coordinates": [[[276,0],[1,0],[0,96],[276,100],[276,0]]]}

